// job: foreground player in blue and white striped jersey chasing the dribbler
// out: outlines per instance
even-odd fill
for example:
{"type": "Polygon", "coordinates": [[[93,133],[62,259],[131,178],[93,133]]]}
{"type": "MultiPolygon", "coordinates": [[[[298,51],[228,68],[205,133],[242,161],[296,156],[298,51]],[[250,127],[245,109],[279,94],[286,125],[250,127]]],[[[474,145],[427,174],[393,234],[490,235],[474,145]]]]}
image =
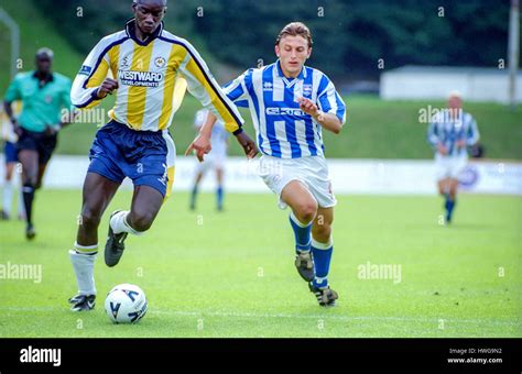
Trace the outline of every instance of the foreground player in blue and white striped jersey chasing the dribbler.
{"type": "MultiPolygon", "coordinates": [[[[305,66],[312,44],[305,24],[287,24],[275,41],[279,59],[247,70],[228,84],[225,92],[238,107],[250,109],[262,153],[260,176],[278,195],[280,207],[291,208],[300,275],[320,306],[333,306],[338,295],[329,287],[328,272],[337,200],[322,130],[338,134],[346,121],[346,107],[328,77],[305,66]]],[[[215,120],[209,116],[202,132],[211,131],[215,120]]],[[[195,141],[198,146],[209,146],[199,142],[195,141]]]]}

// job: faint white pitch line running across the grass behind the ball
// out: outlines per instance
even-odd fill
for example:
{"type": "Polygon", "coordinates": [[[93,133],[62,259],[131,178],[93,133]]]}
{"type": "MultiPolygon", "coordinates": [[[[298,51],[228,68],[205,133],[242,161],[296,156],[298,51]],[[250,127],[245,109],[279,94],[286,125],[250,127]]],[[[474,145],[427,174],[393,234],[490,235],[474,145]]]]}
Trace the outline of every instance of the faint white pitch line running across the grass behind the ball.
{"type": "MultiPolygon", "coordinates": [[[[65,308],[59,307],[0,307],[1,311],[64,311],[65,308]]],[[[459,318],[410,318],[410,317],[394,317],[394,316],[328,316],[328,315],[291,315],[291,314],[255,314],[255,312],[236,312],[236,311],[191,311],[191,310],[162,310],[151,309],[148,311],[151,315],[167,315],[167,316],[193,316],[193,317],[226,317],[226,318],[292,318],[292,319],[315,319],[315,320],[337,320],[337,321],[398,321],[398,322],[433,322],[438,323],[439,320],[455,323],[489,323],[497,326],[522,326],[522,321],[501,321],[491,319],[459,319],[459,318]]]]}

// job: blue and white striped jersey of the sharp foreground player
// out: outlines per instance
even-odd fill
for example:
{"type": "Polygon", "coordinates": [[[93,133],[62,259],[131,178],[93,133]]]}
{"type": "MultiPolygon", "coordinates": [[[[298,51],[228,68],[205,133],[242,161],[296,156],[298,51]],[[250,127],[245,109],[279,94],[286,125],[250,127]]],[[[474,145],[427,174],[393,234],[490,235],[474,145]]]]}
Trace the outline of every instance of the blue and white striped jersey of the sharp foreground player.
{"type": "Polygon", "coordinates": [[[278,61],[244,72],[224,91],[238,107],[249,107],[259,150],[274,157],[324,156],[322,127],[300,109],[298,98],[307,98],[323,112],[346,121],[346,106],[334,84],[307,66],[297,78],[286,78],[278,61]]]}

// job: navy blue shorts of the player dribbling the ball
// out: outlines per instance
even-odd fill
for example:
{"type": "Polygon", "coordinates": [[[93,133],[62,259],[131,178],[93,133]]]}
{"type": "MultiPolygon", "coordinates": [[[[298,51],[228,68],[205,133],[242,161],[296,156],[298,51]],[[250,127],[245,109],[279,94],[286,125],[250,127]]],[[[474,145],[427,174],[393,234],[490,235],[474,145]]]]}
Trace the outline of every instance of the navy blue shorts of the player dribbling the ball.
{"type": "Polygon", "coordinates": [[[121,184],[149,186],[166,197],[174,179],[175,147],[167,131],[137,131],[110,121],[96,133],[88,173],[121,184]]]}

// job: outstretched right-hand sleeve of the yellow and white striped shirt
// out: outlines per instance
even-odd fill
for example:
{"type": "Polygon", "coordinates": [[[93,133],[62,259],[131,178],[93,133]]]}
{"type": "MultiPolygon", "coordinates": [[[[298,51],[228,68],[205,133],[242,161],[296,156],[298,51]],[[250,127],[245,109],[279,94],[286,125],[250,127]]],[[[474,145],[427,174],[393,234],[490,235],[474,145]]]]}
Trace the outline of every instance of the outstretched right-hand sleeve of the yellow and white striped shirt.
{"type": "Polygon", "coordinates": [[[188,42],[185,43],[185,48],[187,55],[180,65],[180,70],[187,81],[188,91],[225,123],[228,132],[239,134],[243,119],[238,108],[216,82],[197,51],[188,42]]]}

